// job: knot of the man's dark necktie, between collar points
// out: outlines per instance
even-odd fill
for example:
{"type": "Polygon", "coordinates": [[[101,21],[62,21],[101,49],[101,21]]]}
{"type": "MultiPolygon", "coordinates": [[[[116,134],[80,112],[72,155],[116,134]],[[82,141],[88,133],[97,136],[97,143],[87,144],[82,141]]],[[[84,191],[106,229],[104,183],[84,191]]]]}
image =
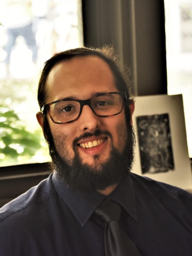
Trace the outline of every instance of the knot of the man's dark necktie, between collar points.
{"type": "Polygon", "coordinates": [[[121,215],[121,206],[112,200],[103,201],[95,209],[94,213],[103,222],[108,222],[110,220],[118,222],[121,215]]]}

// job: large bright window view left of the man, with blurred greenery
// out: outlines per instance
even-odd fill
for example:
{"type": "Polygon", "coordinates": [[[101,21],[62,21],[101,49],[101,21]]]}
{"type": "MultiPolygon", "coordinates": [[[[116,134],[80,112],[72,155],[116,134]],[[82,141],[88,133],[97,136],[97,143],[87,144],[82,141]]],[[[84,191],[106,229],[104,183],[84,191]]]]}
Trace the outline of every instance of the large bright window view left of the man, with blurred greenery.
{"type": "Polygon", "coordinates": [[[82,44],[81,0],[0,0],[0,166],[50,161],[36,120],[39,74],[82,44]]]}

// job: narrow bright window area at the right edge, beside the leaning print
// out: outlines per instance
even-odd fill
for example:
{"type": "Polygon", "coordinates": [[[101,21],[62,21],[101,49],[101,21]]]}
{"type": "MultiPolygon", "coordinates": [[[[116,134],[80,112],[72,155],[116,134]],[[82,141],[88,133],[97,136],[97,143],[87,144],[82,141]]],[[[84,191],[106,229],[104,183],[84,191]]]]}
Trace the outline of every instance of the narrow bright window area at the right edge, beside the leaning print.
{"type": "Polygon", "coordinates": [[[192,0],[165,0],[168,94],[182,94],[192,158],[192,0]]]}

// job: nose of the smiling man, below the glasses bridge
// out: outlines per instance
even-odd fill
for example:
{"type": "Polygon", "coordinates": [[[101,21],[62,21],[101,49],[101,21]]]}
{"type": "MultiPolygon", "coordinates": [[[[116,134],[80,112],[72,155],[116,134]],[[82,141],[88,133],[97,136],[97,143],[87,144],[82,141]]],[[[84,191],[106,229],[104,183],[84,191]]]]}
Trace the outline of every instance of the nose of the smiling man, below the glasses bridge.
{"type": "Polygon", "coordinates": [[[94,132],[101,125],[100,118],[94,114],[88,105],[83,106],[79,121],[81,131],[94,132]]]}

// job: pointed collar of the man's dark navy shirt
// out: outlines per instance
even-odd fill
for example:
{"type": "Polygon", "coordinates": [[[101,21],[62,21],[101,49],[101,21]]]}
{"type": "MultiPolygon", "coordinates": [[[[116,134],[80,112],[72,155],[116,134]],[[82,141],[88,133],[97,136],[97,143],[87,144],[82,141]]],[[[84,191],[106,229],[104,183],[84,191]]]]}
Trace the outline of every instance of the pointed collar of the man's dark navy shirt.
{"type": "MultiPolygon", "coordinates": [[[[55,172],[52,181],[58,195],[67,204],[71,212],[73,212],[81,226],[87,223],[97,206],[106,198],[106,196],[98,192],[84,193],[68,188],[55,172]]],[[[132,218],[137,220],[135,192],[130,175],[119,184],[107,199],[112,199],[120,203],[132,218]]]]}

